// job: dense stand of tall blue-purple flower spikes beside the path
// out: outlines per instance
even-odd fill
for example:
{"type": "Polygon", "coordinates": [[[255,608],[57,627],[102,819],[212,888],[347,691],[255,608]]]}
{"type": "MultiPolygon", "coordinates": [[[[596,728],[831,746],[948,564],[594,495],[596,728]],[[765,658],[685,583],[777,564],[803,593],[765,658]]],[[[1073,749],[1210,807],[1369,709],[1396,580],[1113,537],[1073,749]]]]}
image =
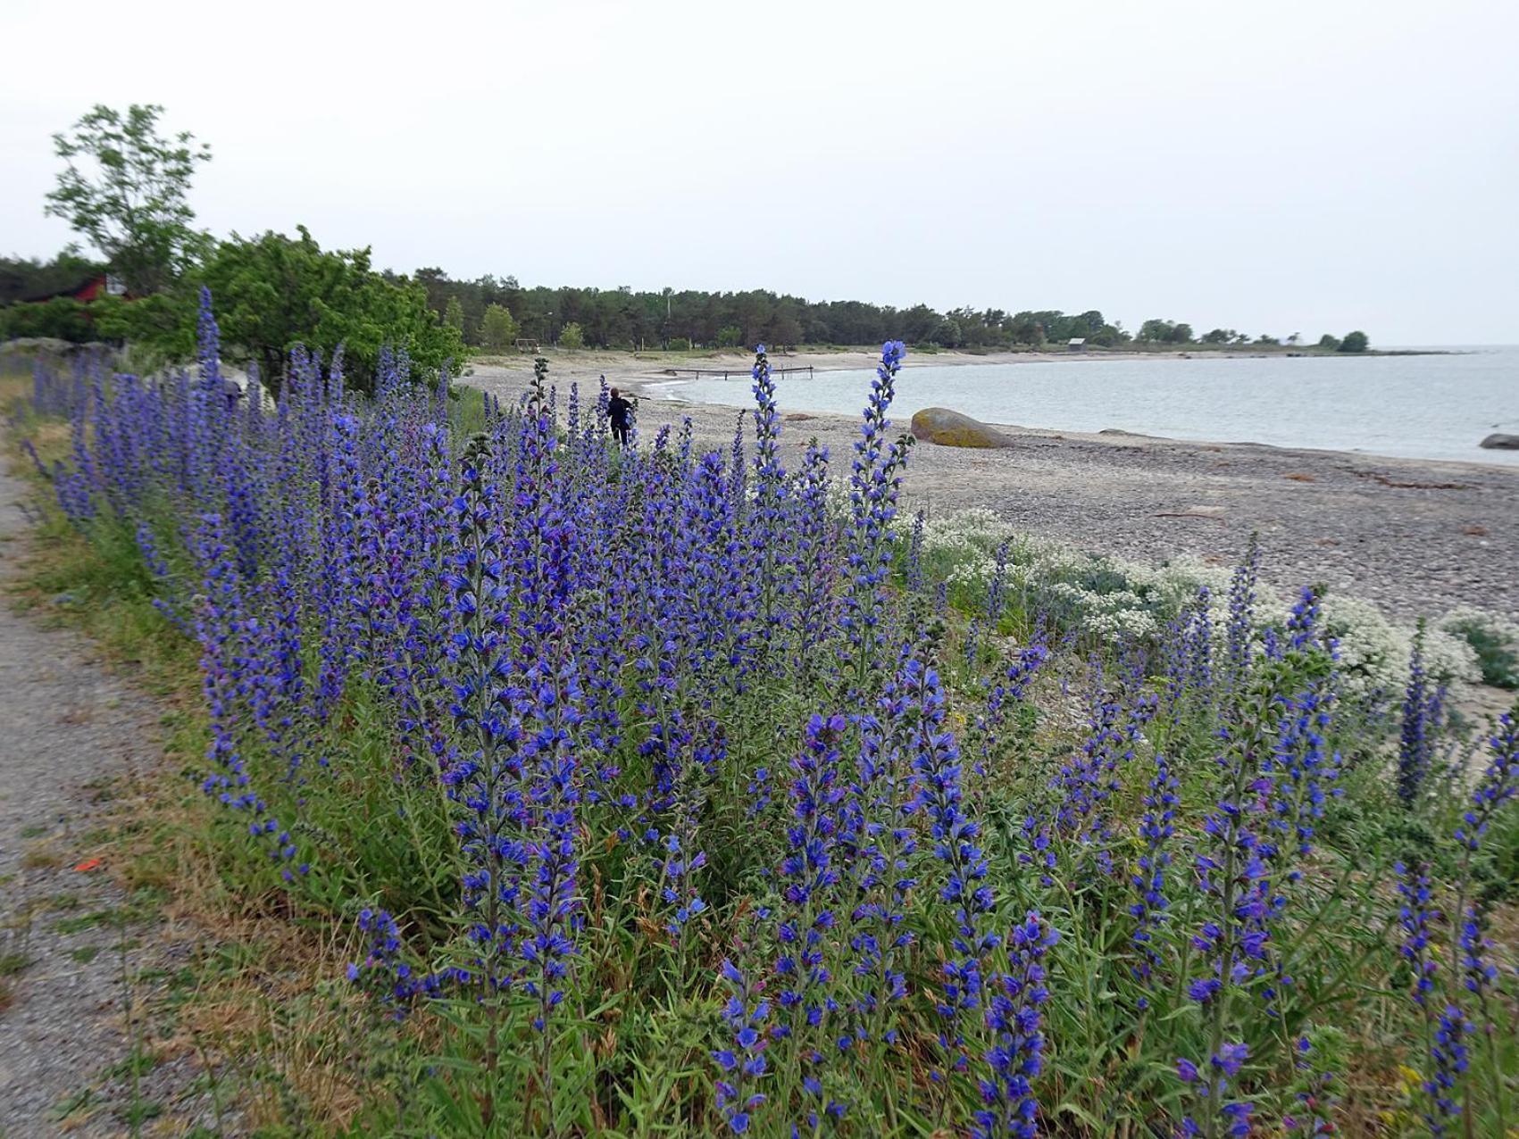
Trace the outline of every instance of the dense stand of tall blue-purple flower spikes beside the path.
{"type": "MultiPolygon", "coordinates": [[[[1116,914],[1101,943],[1115,1004],[1174,986],[1183,1007],[1145,1025],[1205,1028],[1165,1052],[1195,1057],[1177,1063],[1186,1127],[1249,1131],[1271,1059],[1244,1021],[1261,992],[1284,1004],[1282,913],[1343,782],[1315,592],[1261,647],[1252,545],[1227,624],[1205,591],[1168,658],[1103,659],[1085,730],[1051,753],[1030,744],[1044,712],[1025,702],[1059,630],[1001,635],[1009,551],[948,650],[922,521],[899,528],[899,342],[883,345],[838,510],[822,446],[781,462],[764,346],[752,440],[740,419],[732,448],[705,450],[690,424],[615,445],[605,384],[556,409],[542,360],[521,399],[469,409],[468,439],[463,399],[412,389],[399,354],[374,398],[302,349],[273,401],[232,395],[208,302],[201,331],[193,375],[85,364],[38,381],[38,405],[73,421],[59,501],[120,527],[194,636],[204,787],[269,887],[340,896],[358,857],[331,808],[355,787],[386,816],[371,835],[399,820],[416,850],[447,847],[433,899],[365,884],[386,910],[360,914],[349,977],[384,1011],[463,998],[451,1008],[491,1028],[469,1039],[530,1054],[550,1103],[565,1036],[618,972],[611,929],[633,946],[629,984],[722,1034],[715,1112],[691,1107],[693,1127],[864,1133],[904,1110],[887,1130],[939,1113],[1033,1136],[1045,1034],[1065,1024],[1050,1005],[1071,942],[1054,923],[1100,905],[1116,914]]],[[[1514,797],[1514,750],[1505,721],[1458,832],[1469,850],[1514,797]]],[[[1404,899],[1405,952],[1432,977],[1428,881],[1410,876],[1404,899]]],[[[1481,995],[1484,911],[1460,913],[1461,978],[1481,995]]],[[[1438,1100],[1473,1030],[1423,998],[1438,1100]]]]}

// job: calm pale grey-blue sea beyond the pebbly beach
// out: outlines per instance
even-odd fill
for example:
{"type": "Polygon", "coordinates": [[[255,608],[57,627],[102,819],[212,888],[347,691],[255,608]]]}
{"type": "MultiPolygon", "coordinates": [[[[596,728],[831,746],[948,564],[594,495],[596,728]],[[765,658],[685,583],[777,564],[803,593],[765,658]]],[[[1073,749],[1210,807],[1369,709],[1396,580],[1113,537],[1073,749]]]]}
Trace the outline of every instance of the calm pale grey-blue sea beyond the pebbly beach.
{"type": "MultiPolygon", "coordinates": [[[[908,366],[896,380],[892,419],[905,425],[922,407],[949,407],[1057,431],[1116,427],[1168,439],[1519,465],[1519,451],[1478,448],[1492,431],[1519,434],[1519,346],[1446,351],[908,366]]],[[[779,378],[781,410],[857,413],[870,375],[779,378]]],[[[670,393],[744,404],[749,383],[696,380],[671,384],[670,393]]]]}

